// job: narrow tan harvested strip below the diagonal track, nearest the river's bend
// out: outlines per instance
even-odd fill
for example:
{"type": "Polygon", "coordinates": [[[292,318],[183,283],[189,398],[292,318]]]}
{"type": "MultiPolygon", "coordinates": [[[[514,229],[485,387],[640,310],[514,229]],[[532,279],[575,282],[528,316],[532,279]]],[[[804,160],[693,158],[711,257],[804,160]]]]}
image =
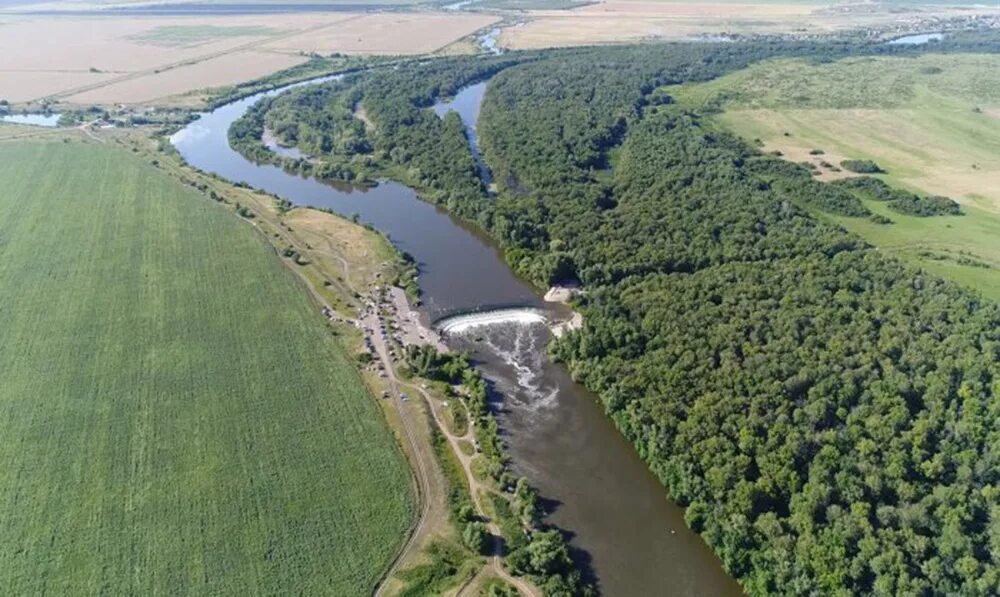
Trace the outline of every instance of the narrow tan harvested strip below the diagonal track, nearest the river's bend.
{"type": "Polygon", "coordinates": [[[305,62],[292,54],[256,51],[235,52],[190,66],[111,83],[67,97],[79,104],[146,103],[194,89],[231,85],[256,79],[305,62]]]}

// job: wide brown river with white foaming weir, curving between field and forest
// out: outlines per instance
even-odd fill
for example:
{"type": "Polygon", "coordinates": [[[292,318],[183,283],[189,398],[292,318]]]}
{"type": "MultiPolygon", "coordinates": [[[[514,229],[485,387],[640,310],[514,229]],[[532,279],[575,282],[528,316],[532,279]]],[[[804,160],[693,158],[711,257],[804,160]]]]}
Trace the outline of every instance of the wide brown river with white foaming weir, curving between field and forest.
{"type": "MultiPolygon", "coordinates": [[[[373,189],[324,184],[253,163],[232,150],[229,125],[265,95],[284,89],[206,113],[172,141],[188,163],[202,170],[296,205],[357,214],[386,233],[420,267],[421,310],[429,320],[511,305],[549,314],[560,309],[515,276],[488,238],[421,201],[412,189],[393,182],[373,189]]],[[[478,101],[463,106],[455,109],[474,128],[466,108],[478,113],[478,101]]],[[[549,520],[572,535],[575,557],[603,594],[741,593],[718,558],[684,525],[681,509],[666,499],[596,397],[549,362],[549,332],[543,324],[508,321],[463,329],[448,334],[449,346],[469,351],[492,382],[516,472],[551,505],[549,520]]]]}

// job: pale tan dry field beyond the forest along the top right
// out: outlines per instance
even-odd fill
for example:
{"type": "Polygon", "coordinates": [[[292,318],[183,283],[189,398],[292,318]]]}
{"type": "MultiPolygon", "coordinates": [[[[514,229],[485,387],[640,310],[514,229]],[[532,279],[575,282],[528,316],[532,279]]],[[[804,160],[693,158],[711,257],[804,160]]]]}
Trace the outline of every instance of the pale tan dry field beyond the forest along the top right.
{"type": "MultiPolygon", "coordinates": [[[[996,7],[976,13],[1000,14],[996,7]]],[[[968,15],[968,10],[924,7],[921,17],[968,15]]],[[[501,45],[512,49],[616,43],[645,39],[678,40],[703,34],[830,32],[861,26],[898,24],[908,18],[897,9],[870,5],[832,8],[829,3],[788,2],[634,2],[607,0],[572,10],[529,11],[522,25],[507,28],[501,45]]]]}

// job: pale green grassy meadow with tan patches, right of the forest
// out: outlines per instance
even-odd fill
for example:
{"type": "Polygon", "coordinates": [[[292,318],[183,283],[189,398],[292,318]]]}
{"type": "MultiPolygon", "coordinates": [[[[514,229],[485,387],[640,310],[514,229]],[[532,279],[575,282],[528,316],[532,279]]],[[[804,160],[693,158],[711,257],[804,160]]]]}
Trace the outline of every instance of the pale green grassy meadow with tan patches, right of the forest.
{"type": "MultiPolygon", "coordinates": [[[[894,186],[959,201],[965,215],[932,218],[865,202],[890,225],[822,217],[1000,300],[1000,56],[783,59],[670,92],[720,108],[723,128],[787,159],[870,159],[894,186]]],[[[819,170],[821,180],[849,175],[819,170]]]]}

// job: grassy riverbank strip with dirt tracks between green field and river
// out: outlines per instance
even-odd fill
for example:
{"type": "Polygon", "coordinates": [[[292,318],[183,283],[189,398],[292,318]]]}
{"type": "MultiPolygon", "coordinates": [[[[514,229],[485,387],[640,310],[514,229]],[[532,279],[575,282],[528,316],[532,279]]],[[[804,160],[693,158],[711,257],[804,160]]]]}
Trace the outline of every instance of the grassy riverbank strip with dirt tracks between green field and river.
{"type": "MultiPolygon", "coordinates": [[[[408,267],[406,260],[382,235],[341,216],[291,207],[271,195],[228,185],[175,162],[173,156],[167,157],[170,159],[162,160],[161,167],[186,184],[205,185],[216,200],[233,206],[276,252],[285,256],[287,267],[299,276],[331,328],[357,356],[371,394],[381,398],[377,402],[410,460],[419,507],[411,532],[376,594],[423,591],[431,586],[435,592],[462,586],[462,594],[466,594],[469,587],[493,579],[517,587],[522,595],[541,595],[530,581],[515,578],[504,569],[503,542],[491,548],[488,559],[481,559],[463,544],[461,528],[449,506],[456,481],[446,471],[449,461],[460,463],[464,472],[459,481],[469,480],[466,491],[478,495],[485,481],[475,480],[475,459],[461,451],[478,443],[472,439],[473,426],[465,424],[465,431],[458,427],[471,415],[456,411],[467,409],[456,390],[415,376],[405,361],[410,347],[448,350],[438,333],[420,317],[406,291],[393,285],[400,268],[408,267]],[[418,396],[422,400],[413,399],[418,396]],[[439,435],[451,444],[449,454],[442,454],[436,446],[435,437],[439,435]],[[442,553],[451,554],[448,564],[439,561],[442,553]],[[424,584],[428,566],[452,564],[457,564],[453,578],[424,584]]],[[[478,498],[471,503],[476,504],[481,520],[490,520],[478,498]]],[[[500,536],[498,527],[490,528],[500,536]]]]}

